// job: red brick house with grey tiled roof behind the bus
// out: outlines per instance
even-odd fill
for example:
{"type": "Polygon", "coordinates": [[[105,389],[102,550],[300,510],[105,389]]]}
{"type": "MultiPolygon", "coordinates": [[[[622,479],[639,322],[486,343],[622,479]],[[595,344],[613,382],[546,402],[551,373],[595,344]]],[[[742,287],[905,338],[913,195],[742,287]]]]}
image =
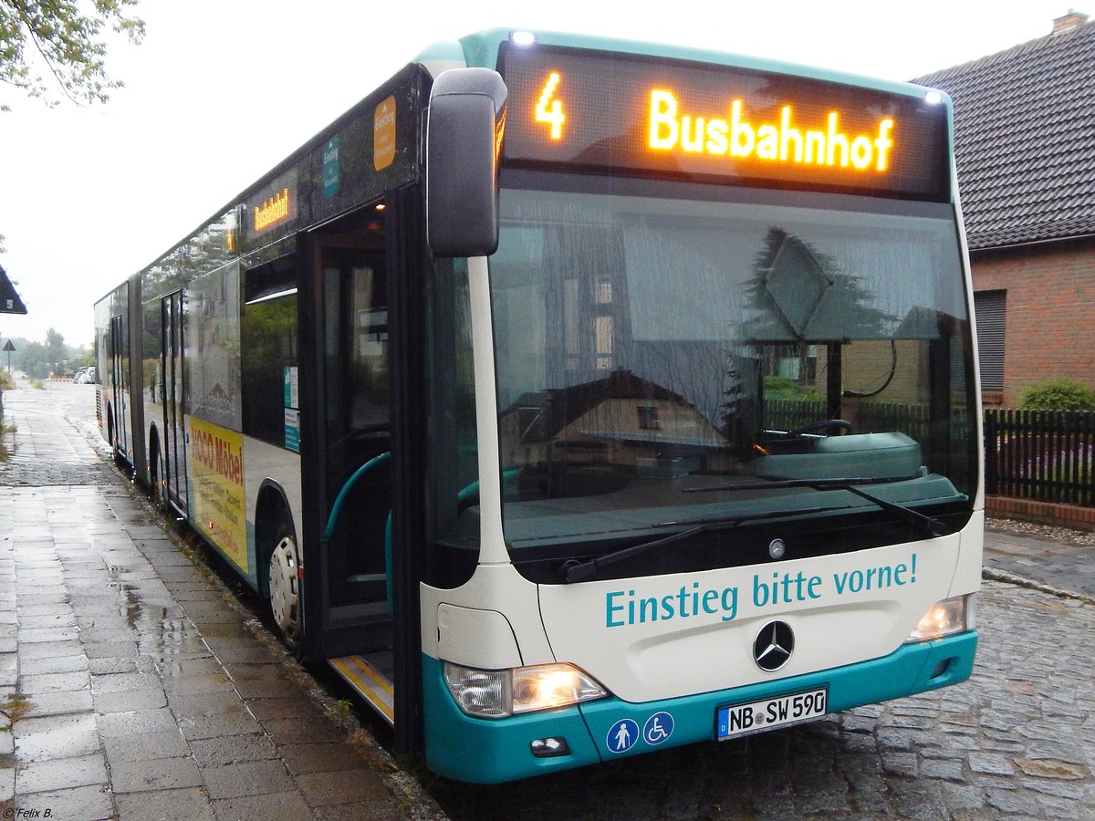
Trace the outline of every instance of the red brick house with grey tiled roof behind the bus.
{"type": "Polygon", "coordinates": [[[955,104],[987,406],[1052,377],[1095,388],[1095,22],[913,82],[955,104]]]}

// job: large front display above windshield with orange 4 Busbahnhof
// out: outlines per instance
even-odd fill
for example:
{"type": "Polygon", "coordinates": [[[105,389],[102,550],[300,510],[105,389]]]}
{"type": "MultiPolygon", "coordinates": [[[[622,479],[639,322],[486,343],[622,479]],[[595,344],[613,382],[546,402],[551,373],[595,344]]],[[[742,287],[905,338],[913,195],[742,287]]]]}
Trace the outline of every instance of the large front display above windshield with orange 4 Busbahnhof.
{"type": "Polygon", "coordinates": [[[507,47],[504,160],[946,199],[946,112],[751,69],[507,47]]]}

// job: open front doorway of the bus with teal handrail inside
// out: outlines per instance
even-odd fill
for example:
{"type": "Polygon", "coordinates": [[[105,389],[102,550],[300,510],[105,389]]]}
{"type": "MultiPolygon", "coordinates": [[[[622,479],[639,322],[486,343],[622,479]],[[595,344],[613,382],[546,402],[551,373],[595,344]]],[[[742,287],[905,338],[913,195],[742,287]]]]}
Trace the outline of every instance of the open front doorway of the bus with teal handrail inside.
{"type": "Polygon", "coordinates": [[[311,335],[316,384],[309,392],[318,402],[302,413],[314,415],[318,428],[318,450],[306,472],[321,485],[315,498],[322,536],[318,560],[304,562],[313,580],[306,620],[319,617],[319,649],[326,658],[390,654],[392,441],[383,238],[328,231],[312,234],[309,245],[312,315],[302,323],[319,331],[311,335]]]}

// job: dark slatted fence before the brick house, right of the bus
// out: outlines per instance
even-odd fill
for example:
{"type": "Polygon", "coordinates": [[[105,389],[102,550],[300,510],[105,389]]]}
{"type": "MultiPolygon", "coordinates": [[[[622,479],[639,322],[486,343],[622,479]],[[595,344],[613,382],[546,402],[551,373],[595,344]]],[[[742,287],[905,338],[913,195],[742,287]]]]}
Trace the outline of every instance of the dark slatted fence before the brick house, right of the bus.
{"type": "Polygon", "coordinates": [[[986,410],[984,492],[1095,507],[1095,410],[986,410]]]}

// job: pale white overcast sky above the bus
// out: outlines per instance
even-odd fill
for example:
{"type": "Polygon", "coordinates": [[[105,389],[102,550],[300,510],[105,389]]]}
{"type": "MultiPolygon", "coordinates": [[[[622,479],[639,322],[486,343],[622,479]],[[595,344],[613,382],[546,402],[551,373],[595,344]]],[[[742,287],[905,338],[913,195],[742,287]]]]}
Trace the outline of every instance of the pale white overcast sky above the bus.
{"type": "MultiPolygon", "coordinates": [[[[1095,13],[1095,0],[1075,0],[1095,13]]],[[[1049,34],[1068,0],[143,0],[105,106],[0,89],[0,265],[26,316],[90,345],[92,305],[426,45],[496,26],[673,43],[908,80],[1049,34]],[[604,11],[602,11],[602,9],[604,11]],[[611,9],[612,11],[607,11],[611,9]]]]}

